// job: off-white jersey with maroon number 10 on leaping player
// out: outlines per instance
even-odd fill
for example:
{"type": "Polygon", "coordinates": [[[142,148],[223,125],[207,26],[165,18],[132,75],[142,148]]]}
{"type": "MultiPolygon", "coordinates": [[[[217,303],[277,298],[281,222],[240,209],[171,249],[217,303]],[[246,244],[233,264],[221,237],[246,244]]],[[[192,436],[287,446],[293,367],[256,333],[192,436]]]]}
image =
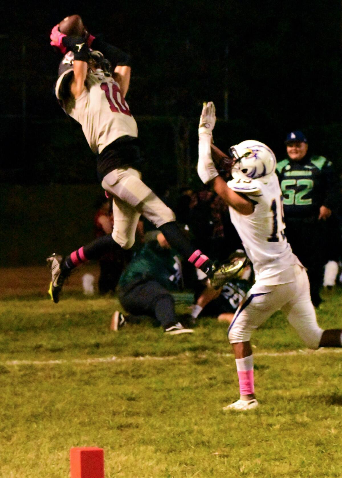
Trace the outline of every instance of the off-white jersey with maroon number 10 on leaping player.
{"type": "Polygon", "coordinates": [[[72,73],[67,70],[58,78],[55,93],[64,111],[82,125],[85,138],[95,153],[121,136],[138,137],[138,127],[119,85],[102,70],[88,72],[85,90],[78,98],[63,94],[63,80],[72,73]]]}

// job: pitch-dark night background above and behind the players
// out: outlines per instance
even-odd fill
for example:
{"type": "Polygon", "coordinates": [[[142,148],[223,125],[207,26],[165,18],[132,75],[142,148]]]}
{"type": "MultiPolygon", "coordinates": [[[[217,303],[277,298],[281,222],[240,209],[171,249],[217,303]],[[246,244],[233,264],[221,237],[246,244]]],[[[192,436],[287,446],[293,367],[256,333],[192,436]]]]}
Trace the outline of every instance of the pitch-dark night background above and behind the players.
{"type": "Polygon", "coordinates": [[[38,185],[97,184],[95,157],[53,96],[60,57],[50,31],[75,13],[132,55],[127,100],[144,179],[158,193],[198,184],[197,125],[208,100],[221,149],[256,139],[282,159],[286,134],[300,129],[312,154],[342,170],[340,1],[14,1],[0,13],[0,183],[3,196],[17,191],[11,212],[38,185]]]}

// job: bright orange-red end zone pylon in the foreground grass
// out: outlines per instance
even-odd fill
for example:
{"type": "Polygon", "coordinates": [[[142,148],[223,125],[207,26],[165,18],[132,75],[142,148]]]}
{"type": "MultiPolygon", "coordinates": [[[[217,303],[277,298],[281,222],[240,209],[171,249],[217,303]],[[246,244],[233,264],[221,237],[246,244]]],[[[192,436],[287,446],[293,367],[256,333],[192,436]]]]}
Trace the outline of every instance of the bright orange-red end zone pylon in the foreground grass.
{"type": "Polygon", "coordinates": [[[96,446],[70,448],[70,478],[105,478],[103,449],[96,446]]]}

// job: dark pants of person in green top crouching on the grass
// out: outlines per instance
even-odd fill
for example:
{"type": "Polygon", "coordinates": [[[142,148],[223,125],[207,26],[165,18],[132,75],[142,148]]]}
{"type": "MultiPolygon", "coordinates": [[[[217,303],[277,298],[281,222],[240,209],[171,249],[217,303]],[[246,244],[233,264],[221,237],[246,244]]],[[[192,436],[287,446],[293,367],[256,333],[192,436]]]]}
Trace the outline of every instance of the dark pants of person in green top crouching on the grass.
{"type": "MultiPolygon", "coordinates": [[[[149,315],[164,328],[177,323],[174,299],[157,281],[140,281],[119,287],[118,297],[124,309],[133,316],[149,315]]],[[[130,322],[129,316],[127,321],[130,322]]]]}

